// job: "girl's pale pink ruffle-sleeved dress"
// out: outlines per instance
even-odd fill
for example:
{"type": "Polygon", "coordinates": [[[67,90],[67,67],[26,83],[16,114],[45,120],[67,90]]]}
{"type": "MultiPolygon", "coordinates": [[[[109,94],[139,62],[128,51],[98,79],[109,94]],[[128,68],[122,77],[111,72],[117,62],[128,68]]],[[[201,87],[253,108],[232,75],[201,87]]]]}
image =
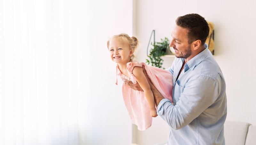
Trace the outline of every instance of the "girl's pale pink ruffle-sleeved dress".
{"type": "MultiPolygon", "coordinates": [[[[135,76],[132,74],[132,69],[135,66],[142,67],[142,65],[145,66],[148,77],[151,79],[157,90],[164,98],[167,98],[172,102],[172,74],[167,70],[147,66],[144,62],[128,62],[127,70],[130,78],[124,76],[124,74],[120,72],[118,65],[116,65],[116,75],[120,76],[123,81],[126,79],[132,81],[132,83],[137,83],[135,76]]],[[[132,123],[137,125],[139,130],[146,130],[150,127],[152,124],[152,117],[144,92],[133,90],[129,85],[123,83],[122,94],[124,104],[128,110],[132,123]]]]}

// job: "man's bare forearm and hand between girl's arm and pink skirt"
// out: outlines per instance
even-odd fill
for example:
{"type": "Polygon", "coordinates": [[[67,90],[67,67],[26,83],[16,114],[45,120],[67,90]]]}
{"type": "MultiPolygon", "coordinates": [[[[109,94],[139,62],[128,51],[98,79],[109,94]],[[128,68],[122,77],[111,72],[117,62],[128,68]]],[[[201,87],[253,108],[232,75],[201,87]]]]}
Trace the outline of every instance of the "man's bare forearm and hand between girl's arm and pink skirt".
{"type": "Polygon", "coordinates": [[[158,104],[160,103],[160,101],[162,99],[164,99],[164,97],[162,96],[162,94],[156,89],[156,87],[153,85],[153,83],[151,82],[151,80],[148,78],[148,74],[145,70],[145,66],[143,65],[142,66],[142,69],[143,69],[143,73],[144,75],[146,76],[147,80],[148,80],[148,83],[150,85],[150,88],[151,88],[151,91],[153,92],[154,94],[154,98],[155,98],[155,102],[156,102],[156,106],[158,106],[158,104]]]}

